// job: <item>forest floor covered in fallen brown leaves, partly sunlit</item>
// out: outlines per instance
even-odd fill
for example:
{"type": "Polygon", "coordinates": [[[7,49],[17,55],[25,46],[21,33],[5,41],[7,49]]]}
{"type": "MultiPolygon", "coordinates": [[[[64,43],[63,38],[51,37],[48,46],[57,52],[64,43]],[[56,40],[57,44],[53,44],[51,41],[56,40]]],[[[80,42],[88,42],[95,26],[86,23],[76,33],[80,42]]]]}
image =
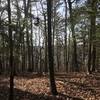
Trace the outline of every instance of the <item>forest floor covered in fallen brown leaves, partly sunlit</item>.
{"type": "MultiPolygon", "coordinates": [[[[100,100],[100,73],[56,74],[59,95],[52,96],[48,76],[24,74],[14,79],[14,100],[100,100]]],[[[0,100],[8,100],[9,77],[0,76],[0,100]]]]}

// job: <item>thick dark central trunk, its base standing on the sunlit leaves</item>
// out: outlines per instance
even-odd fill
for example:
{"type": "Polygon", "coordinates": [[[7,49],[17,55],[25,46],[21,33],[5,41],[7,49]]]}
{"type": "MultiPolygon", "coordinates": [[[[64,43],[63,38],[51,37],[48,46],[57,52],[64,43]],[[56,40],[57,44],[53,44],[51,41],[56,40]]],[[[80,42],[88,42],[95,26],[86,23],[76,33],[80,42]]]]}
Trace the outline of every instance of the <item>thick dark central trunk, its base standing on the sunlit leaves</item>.
{"type": "Polygon", "coordinates": [[[49,74],[50,74],[50,86],[53,95],[57,95],[57,89],[54,78],[54,61],[52,52],[52,32],[51,32],[51,0],[47,0],[47,16],[48,16],[48,59],[49,59],[49,74]]]}

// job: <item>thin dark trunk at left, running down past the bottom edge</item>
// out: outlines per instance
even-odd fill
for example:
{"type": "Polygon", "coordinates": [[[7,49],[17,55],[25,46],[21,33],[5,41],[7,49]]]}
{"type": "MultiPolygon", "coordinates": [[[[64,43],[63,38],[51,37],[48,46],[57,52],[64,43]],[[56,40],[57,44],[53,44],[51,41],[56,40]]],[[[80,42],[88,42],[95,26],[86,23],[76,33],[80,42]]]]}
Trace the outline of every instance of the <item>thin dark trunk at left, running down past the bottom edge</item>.
{"type": "Polygon", "coordinates": [[[13,66],[13,41],[12,41],[12,29],[11,29],[11,6],[10,0],[8,2],[8,21],[9,21],[9,49],[10,49],[10,92],[9,92],[9,100],[14,100],[14,66],[13,66]]]}

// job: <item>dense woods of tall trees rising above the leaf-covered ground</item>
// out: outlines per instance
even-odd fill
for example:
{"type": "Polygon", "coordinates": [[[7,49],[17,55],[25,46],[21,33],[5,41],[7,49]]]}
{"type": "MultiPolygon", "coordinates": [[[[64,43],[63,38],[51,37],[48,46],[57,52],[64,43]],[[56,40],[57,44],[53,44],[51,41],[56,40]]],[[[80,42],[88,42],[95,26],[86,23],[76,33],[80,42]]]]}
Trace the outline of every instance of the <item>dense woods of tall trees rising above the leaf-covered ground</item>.
{"type": "MultiPolygon", "coordinates": [[[[0,0],[0,74],[100,72],[100,0],[0,0]]],[[[55,73],[55,74],[54,74],[55,73]]],[[[98,99],[99,100],[99,99],[98,99]]]]}

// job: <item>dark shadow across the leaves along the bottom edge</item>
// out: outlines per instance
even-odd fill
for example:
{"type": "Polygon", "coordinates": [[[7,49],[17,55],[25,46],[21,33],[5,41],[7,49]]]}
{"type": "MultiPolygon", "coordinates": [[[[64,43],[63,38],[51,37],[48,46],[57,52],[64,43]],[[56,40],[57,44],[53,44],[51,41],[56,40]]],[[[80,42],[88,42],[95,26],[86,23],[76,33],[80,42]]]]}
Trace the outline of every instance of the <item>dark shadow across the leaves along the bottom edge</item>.
{"type": "MultiPolygon", "coordinates": [[[[9,88],[0,86],[0,100],[8,100],[9,88]]],[[[63,94],[58,96],[47,96],[44,94],[32,94],[30,92],[14,89],[14,100],[83,100],[80,98],[73,98],[63,94]]]]}

